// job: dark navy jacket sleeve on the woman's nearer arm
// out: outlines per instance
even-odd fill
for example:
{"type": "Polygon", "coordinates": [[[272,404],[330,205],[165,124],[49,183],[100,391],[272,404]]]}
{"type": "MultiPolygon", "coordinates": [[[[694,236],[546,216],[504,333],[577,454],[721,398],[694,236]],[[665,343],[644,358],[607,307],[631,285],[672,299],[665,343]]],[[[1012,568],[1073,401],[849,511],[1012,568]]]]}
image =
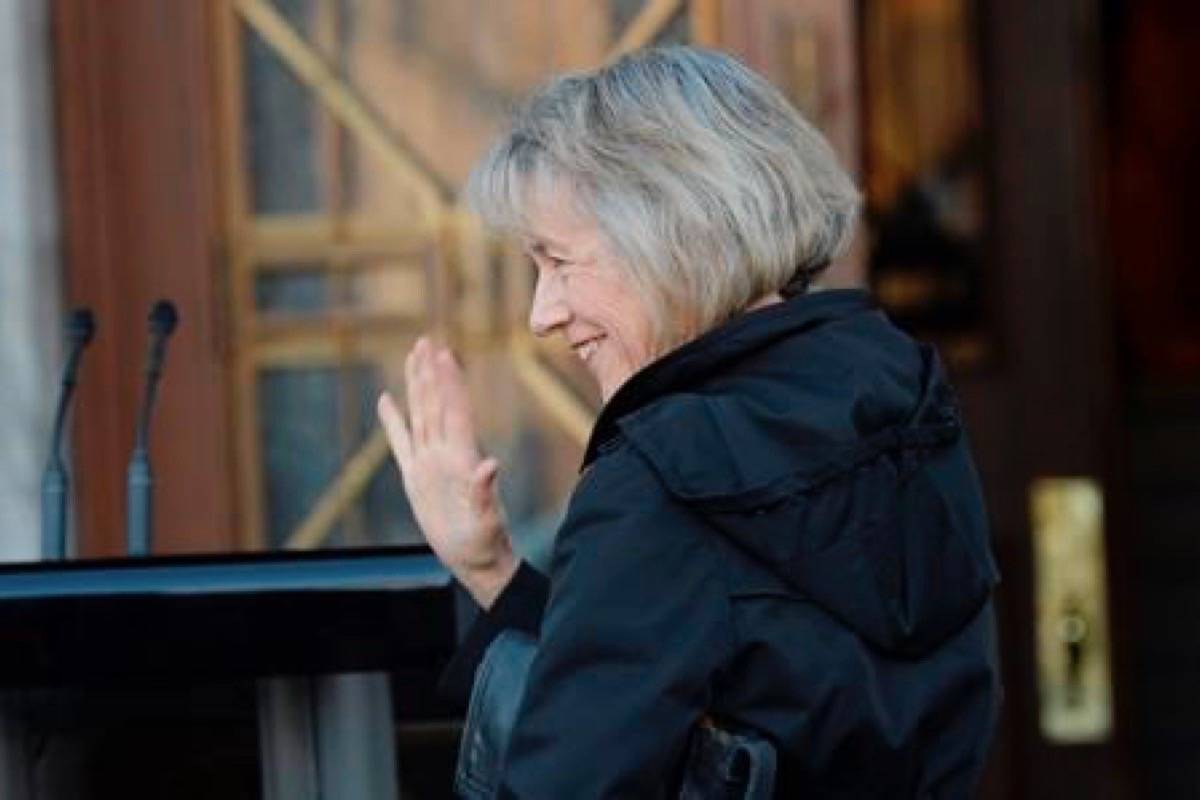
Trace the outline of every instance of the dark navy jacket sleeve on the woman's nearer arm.
{"type": "Polygon", "coordinates": [[[500,796],[661,796],[732,654],[710,533],[626,449],[559,531],[500,796]]]}

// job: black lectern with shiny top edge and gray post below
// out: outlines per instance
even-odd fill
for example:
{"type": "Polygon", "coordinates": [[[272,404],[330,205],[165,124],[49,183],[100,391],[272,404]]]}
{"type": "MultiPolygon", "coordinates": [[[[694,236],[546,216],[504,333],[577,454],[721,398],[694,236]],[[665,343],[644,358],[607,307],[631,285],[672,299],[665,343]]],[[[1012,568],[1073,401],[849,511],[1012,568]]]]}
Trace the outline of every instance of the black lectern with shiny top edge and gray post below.
{"type": "Polygon", "coordinates": [[[420,706],[456,632],[418,547],[0,565],[0,796],[28,796],[35,757],[13,698],[245,679],[263,796],[394,796],[391,676],[420,706]]]}

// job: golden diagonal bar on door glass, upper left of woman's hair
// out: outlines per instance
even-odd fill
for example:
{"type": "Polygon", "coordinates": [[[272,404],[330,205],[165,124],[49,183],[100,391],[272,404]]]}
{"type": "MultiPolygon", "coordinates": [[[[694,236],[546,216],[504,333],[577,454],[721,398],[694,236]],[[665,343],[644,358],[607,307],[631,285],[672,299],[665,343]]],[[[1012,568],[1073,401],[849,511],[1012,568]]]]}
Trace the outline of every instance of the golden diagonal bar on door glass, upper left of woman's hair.
{"type": "Polygon", "coordinates": [[[358,136],[382,164],[413,190],[421,218],[432,218],[444,209],[451,188],[401,142],[396,131],[337,76],[268,0],[234,0],[234,8],[296,78],[317,95],[325,110],[358,136]]]}

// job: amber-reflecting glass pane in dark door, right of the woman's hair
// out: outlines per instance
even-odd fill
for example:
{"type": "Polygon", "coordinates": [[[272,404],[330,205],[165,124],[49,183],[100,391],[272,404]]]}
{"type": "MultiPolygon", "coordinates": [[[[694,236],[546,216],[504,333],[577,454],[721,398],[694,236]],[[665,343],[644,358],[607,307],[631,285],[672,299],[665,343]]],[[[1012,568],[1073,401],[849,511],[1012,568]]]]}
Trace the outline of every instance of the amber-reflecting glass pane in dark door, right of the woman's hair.
{"type": "Polygon", "coordinates": [[[986,355],[984,158],[974,4],[864,8],[870,277],[952,361],[986,355]]]}

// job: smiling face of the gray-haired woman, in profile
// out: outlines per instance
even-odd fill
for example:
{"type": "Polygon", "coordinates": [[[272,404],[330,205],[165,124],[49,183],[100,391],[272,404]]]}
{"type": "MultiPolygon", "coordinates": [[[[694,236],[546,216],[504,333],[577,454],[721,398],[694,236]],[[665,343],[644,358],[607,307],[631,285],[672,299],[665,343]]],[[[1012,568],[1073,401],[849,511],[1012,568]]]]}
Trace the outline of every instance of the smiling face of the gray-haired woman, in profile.
{"type": "Polygon", "coordinates": [[[524,248],[538,270],[529,327],[562,333],[607,402],[654,359],[649,307],[595,223],[562,192],[535,206],[524,248]]]}

